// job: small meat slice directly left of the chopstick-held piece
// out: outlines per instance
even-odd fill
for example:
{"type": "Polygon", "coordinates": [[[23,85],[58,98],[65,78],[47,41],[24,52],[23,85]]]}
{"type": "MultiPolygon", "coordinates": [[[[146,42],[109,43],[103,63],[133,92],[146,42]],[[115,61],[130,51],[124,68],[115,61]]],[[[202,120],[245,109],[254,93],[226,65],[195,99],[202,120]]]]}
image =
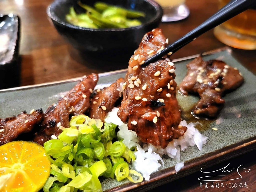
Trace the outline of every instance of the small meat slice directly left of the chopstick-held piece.
{"type": "Polygon", "coordinates": [[[122,86],[124,79],[120,78],[110,87],[106,87],[101,91],[97,92],[92,98],[90,105],[90,118],[104,119],[108,112],[110,112],[115,103],[122,97],[122,86]]]}

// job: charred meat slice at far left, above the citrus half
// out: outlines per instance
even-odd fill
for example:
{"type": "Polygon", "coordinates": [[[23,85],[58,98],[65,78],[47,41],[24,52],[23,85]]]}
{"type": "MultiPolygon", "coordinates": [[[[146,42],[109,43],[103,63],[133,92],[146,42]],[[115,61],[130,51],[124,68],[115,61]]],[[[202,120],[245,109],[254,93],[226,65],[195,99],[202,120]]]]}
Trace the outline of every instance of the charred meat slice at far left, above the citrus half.
{"type": "Polygon", "coordinates": [[[0,146],[15,141],[20,134],[29,133],[36,125],[41,123],[42,120],[42,109],[32,114],[27,114],[24,111],[17,116],[0,119],[0,146]]]}

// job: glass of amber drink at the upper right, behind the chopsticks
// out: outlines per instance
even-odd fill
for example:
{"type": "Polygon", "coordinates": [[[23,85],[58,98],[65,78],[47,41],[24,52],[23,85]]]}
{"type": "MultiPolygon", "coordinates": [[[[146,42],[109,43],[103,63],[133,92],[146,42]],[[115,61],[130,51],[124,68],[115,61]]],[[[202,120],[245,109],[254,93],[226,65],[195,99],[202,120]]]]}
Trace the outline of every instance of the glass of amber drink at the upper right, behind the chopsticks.
{"type": "MultiPolygon", "coordinates": [[[[219,9],[229,2],[230,0],[219,0],[219,9]]],[[[231,47],[256,50],[256,10],[248,9],[217,26],[214,29],[214,35],[222,43],[231,47]]]]}

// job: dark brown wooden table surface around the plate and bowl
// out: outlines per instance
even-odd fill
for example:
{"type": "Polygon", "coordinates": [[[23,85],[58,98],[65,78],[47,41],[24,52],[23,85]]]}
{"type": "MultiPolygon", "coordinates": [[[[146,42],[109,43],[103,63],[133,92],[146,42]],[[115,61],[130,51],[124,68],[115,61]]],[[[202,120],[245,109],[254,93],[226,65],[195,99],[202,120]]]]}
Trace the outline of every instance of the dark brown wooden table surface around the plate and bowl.
{"type": "MultiPolygon", "coordinates": [[[[116,70],[117,68],[111,67],[93,67],[95,61],[84,60],[77,50],[74,50],[61,38],[46,15],[46,7],[51,2],[52,0],[0,0],[0,14],[16,13],[22,21],[20,42],[22,86],[81,77],[92,72],[101,73],[116,70]]],[[[174,42],[182,37],[218,10],[218,0],[188,0],[186,4],[190,9],[188,19],[160,25],[165,36],[169,38],[169,42],[174,42]]],[[[211,30],[179,50],[173,55],[173,59],[199,54],[223,46],[225,45],[214,37],[211,30]]],[[[233,53],[246,68],[256,74],[256,51],[233,49],[233,53]]],[[[127,65],[119,66],[119,68],[127,68],[127,65]]],[[[217,170],[230,163],[233,167],[243,164],[244,168],[251,169],[239,180],[223,182],[225,188],[221,188],[221,183],[220,188],[217,186],[212,188],[208,182],[208,188],[206,189],[205,183],[203,183],[201,189],[198,178],[202,177],[202,174],[198,172],[152,191],[256,191],[254,155],[255,151],[211,168],[211,170],[217,170]],[[232,183],[237,184],[237,188],[226,188],[226,184],[232,183]],[[240,183],[243,184],[242,188],[241,185],[239,186],[240,183]],[[247,183],[247,188],[244,186],[245,183],[247,183]]],[[[237,178],[235,172],[228,174],[229,180],[235,178],[237,178]]]]}

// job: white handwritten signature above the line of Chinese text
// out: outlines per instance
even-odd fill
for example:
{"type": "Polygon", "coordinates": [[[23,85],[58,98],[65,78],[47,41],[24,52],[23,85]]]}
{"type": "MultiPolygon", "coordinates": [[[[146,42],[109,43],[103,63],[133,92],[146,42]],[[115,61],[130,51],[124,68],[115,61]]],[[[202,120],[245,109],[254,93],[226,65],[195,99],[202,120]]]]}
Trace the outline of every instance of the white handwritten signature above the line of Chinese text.
{"type": "Polygon", "coordinates": [[[241,179],[242,178],[239,171],[241,171],[243,169],[246,170],[245,171],[246,173],[251,171],[251,169],[242,168],[243,165],[240,165],[240,166],[235,167],[235,168],[233,168],[233,167],[229,168],[228,167],[229,165],[230,165],[230,163],[226,167],[223,167],[221,169],[218,169],[216,171],[211,171],[211,172],[203,172],[202,168],[201,168],[202,173],[206,173],[206,174],[214,173],[214,175],[211,174],[210,176],[200,177],[198,180],[200,180],[200,181],[231,181],[231,180],[236,180],[236,179],[241,179]],[[237,174],[238,174],[236,179],[227,179],[227,180],[225,180],[225,178],[222,178],[221,180],[211,180],[212,177],[225,177],[228,173],[234,172],[234,171],[237,172],[237,174]]]}

